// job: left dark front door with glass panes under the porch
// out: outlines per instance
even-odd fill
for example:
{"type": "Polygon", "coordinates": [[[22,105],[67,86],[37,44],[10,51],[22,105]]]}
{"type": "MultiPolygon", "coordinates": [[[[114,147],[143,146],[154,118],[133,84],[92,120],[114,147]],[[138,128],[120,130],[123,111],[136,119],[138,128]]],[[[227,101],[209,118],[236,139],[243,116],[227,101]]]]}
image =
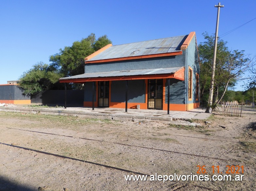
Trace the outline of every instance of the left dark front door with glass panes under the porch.
{"type": "Polygon", "coordinates": [[[98,82],[98,107],[109,107],[109,81],[98,82]]]}

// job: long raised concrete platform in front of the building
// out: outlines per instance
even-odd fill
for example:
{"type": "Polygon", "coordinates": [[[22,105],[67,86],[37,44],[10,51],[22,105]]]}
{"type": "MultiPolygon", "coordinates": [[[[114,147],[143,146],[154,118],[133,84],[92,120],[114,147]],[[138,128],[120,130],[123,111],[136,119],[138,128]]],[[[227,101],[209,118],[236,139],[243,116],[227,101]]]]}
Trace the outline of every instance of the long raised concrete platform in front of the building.
{"type": "Polygon", "coordinates": [[[119,108],[92,108],[89,107],[68,107],[68,108],[35,108],[35,107],[0,107],[0,111],[6,112],[22,112],[44,115],[58,115],[58,116],[76,116],[83,118],[97,118],[109,119],[120,121],[134,121],[134,122],[147,122],[158,121],[167,124],[180,124],[180,125],[199,125],[191,123],[190,119],[205,120],[212,114],[204,113],[205,109],[196,108],[190,111],[170,111],[167,115],[165,110],[146,110],[146,109],[125,109],[119,108]]]}

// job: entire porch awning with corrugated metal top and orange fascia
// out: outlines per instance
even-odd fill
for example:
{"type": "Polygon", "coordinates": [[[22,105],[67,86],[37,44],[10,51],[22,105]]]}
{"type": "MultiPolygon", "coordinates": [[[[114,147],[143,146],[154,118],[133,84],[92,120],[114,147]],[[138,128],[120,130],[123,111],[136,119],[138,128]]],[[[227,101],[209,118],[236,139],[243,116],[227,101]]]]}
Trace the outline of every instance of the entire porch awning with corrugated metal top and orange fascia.
{"type": "Polygon", "coordinates": [[[63,77],[59,80],[60,82],[81,83],[86,81],[111,81],[150,78],[176,78],[179,80],[184,80],[184,67],[85,73],[81,75],[63,77]]]}

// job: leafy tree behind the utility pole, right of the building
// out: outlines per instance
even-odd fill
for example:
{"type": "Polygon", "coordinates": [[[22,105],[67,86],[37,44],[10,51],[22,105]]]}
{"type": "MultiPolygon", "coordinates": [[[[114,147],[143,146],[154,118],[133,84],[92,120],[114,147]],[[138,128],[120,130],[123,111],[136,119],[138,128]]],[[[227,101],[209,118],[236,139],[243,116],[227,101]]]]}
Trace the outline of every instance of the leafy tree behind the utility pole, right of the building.
{"type": "MultiPolygon", "coordinates": [[[[203,34],[206,39],[205,42],[200,43],[198,46],[200,60],[201,60],[201,95],[206,91],[208,92],[209,79],[212,74],[213,63],[213,48],[214,48],[214,36],[208,33],[203,34]]],[[[214,79],[214,102],[219,103],[225,95],[228,87],[235,85],[237,80],[245,80],[247,77],[243,77],[243,74],[248,71],[255,62],[253,62],[248,55],[244,54],[244,50],[229,50],[227,42],[218,39],[217,54],[216,54],[216,68],[214,79]],[[220,95],[220,96],[219,96],[220,95]]]]}

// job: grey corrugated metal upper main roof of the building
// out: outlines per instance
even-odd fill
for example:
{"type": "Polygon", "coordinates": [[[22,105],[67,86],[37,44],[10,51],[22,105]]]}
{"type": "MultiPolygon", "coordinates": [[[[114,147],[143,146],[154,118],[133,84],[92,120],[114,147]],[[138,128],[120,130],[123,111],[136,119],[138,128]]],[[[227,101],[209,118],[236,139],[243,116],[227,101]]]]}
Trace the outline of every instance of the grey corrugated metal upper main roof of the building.
{"type": "Polygon", "coordinates": [[[104,50],[88,61],[179,52],[181,51],[180,46],[185,41],[186,37],[187,35],[183,35],[123,45],[115,45],[104,50]]]}

